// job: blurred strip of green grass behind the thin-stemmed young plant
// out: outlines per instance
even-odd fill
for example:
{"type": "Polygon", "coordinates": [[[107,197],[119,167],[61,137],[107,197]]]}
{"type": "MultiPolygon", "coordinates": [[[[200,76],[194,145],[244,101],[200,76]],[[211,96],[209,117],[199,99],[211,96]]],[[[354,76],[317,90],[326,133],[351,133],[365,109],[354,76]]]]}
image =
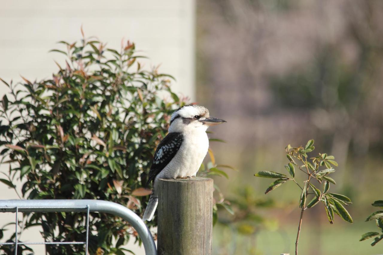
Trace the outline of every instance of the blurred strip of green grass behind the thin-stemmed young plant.
{"type": "MultiPolygon", "coordinates": [[[[304,223],[303,223],[304,224],[304,223]]],[[[372,239],[359,242],[360,235],[377,231],[371,224],[322,224],[321,229],[311,223],[303,225],[298,251],[301,255],[376,255],[383,253],[383,243],[371,247],[372,239]]],[[[213,254],[275,255],[295,254],[296,225],[287,224],[277,230],[262,230],[253,236],[230,234],[221,226],[213,230],[213,254]]]]}

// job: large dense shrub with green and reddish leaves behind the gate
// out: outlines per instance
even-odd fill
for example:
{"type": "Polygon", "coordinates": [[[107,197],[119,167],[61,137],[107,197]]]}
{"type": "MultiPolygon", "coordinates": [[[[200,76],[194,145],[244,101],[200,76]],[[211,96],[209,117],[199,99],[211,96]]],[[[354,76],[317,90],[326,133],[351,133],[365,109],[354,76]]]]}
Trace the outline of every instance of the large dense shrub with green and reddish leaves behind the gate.
{"type": "MultiPolygon", "coordinates": [[[[1,102],[0,155],[10,167],[0,181],[16,190],[13,182],[20,178],[20,198],[102,199],[140,215],[151,193],[143,187],[154,150],[167,133],[170,114],[185,100],[171,91],[169,75],[142,69],[129,41],[121,51],[84,37],[80,43],[59,43],[66,51],[52,51],[68,60],[65,67],[56,63],[59,70],[52,78],[23,78],[17,84],[2,80],[10,93],[1,102]]],[[[46,241],[68,242],[85,238],[85,217],[34,213],[26,214],[22,224],[24,229],[42,226],[46,241]]],[[[156,222],[148,222],[149,227],[156,222]]],[[[131,226],[106,214],[91,213],[90,229],[91,254],[116,252],[131,236],[138,240],[131,226]]],[[[10,253],[10,248],[0,249],[10,253]]],[[[46,249],[83,254],[81,245],[46,249]]]]}

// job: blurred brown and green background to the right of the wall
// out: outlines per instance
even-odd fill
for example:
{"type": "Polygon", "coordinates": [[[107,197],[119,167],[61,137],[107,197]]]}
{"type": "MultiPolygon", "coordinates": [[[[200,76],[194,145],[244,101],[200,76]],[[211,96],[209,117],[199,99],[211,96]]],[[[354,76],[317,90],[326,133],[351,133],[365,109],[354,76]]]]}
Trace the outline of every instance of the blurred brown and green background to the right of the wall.
{"type": "Polygon", "coordinates": [[[376,228],[363,221],[383,192],[382,11],[376,0],[197,1],[197,100],[228,121],[217,136],[230,146],[213,149],[239,169],[222,191],[262,218],[234,227],[247,211],[232,202],[236,216],[222,212],[214,228],[216,254],[293,253],[299,210],[289,205],[299,201],[275,190],[270,197],[286,204],[255,206],[267,185],[251,176],[283,172],[285,145],[310,138],[318,152],[336,157],[334,192],[354,202],[354,224],[330,226],[313,208],[303,220],[310,226],[301,253],[378,253],[379,243],[358,239],[376,228]],[[243,201],[244,186],[254,200],[243,201]],[[324,241],[314,250],[308,245],[324,241]]]}

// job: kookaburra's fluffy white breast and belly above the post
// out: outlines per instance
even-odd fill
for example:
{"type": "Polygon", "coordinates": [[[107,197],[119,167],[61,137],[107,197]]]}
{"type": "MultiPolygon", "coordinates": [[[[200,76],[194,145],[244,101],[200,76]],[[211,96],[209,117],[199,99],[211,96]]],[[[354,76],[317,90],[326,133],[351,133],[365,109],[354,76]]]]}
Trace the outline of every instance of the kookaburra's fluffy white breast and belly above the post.
{"type": "Polygon", "coordinates": [[[183,133],[183,142],[174,158],[157,175],[158,178],[194,177],[209,148],[209,139],[204,129],[183,133]]]}

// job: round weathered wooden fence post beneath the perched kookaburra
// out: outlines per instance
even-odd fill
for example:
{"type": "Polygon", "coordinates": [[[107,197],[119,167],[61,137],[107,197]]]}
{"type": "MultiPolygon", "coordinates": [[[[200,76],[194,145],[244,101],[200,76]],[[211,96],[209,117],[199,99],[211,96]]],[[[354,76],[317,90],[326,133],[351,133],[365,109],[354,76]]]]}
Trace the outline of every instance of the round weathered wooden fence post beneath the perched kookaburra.
{"type": "Polygon", "coordinates": [[[213,180],[159,179],[159,255],[211,255],[213,180]]]}

